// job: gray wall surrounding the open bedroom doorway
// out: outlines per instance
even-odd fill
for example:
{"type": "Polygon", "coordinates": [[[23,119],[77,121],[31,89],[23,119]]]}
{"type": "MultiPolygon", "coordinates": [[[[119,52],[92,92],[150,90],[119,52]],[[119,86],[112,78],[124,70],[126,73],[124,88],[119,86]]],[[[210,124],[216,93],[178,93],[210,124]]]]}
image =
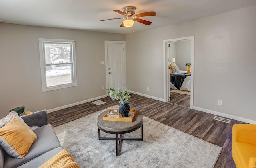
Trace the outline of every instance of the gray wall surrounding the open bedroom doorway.
{"type": "Polygon", "coordinates": [[[164,98],[163,40],[194,35],[194,108],[256,121],[255,16],[250,6],[126,34],[127,88],[164,98]]]}

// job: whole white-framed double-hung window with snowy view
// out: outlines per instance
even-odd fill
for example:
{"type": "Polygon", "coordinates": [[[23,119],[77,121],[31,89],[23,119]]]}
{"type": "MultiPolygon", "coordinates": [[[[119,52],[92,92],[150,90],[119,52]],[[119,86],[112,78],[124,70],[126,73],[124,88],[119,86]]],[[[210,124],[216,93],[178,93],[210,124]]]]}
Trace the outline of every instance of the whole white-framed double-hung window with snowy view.
{"type": "Polygon", "coordinates": [[[76,86],[75,41],[38,40],[43,92],[76,86]]]}

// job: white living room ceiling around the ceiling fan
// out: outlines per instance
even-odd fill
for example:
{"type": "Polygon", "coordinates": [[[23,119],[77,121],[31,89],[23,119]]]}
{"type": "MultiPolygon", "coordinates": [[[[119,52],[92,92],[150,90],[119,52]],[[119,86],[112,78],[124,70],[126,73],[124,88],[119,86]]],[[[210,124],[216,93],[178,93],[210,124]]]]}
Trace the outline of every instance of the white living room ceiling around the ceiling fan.
{"type": "Polygon", "coordinates": [[[120,27],[122,18],[112,11],[135,6],[135,12],[156,12],[142,17],[151,25],[134,23],[134,32],[154,29],[256,5],[256,0],[0,0],[0,19],[4,23],[60,27],[108,33],[132,33],[132,27],[120,27]]]}

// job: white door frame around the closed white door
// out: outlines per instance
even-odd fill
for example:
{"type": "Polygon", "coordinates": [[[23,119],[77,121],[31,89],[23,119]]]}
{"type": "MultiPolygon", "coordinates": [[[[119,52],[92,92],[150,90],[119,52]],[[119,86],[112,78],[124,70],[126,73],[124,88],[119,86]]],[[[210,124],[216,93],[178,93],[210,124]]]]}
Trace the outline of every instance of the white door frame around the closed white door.
{"type": "MultiPolygon", "coordinates": [[[[105,40],[105,72],[106,72],[106,88],[108,88],[108,43],[118,43],[124,45],[124,88],[126,88],[126,61],[125,61],[125,41],[109,41],[105,40]]],[[[108,95],[108,91],[106,91],[108,95]]]]}

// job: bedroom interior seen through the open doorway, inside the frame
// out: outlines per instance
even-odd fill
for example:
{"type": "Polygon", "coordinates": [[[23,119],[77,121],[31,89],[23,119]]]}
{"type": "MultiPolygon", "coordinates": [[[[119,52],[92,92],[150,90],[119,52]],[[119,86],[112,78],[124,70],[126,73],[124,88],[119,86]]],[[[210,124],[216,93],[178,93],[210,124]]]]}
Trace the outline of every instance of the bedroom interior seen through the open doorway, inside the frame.
{"type": "Polygon", "coordinates": [[[168,43],[168,60],[170,60],[170,99],[172,104],[190,107],[191,76],[186,63],[191,63],[191,40],[172,41],[168,43]],[[177,72],[171,70],[175,64],[177,72]]]}

